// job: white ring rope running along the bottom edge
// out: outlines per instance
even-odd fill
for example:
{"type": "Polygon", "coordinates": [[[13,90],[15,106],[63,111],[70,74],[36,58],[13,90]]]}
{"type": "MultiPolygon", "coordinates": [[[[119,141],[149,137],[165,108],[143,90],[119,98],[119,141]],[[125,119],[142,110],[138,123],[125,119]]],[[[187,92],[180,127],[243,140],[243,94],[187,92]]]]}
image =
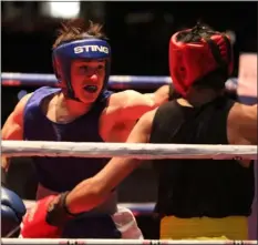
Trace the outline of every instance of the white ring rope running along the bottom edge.
{"type": "Polygon", "coordinates": [[[31,239],[31,238],[2,238],[1,244],[3,245],[44,245],[44,244],[51,244],[51,245],[84,245],[84,244],[155,244],[155,245],[162,245],[162,244],[257,244],[256,241],[196,241],[196,239],[187,239],[187,241],[167,241],[167,239],[31,239]]]}

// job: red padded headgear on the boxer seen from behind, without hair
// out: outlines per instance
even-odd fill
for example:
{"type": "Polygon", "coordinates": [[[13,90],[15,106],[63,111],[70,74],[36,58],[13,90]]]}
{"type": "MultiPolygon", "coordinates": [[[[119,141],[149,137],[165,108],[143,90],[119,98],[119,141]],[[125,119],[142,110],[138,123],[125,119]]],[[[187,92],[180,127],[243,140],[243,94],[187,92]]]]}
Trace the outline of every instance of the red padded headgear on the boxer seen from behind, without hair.
{"type": "Polygon", "coordinates": [[[197,42],[182,42],[177,41],[179,33],[175,33],[169,41],[169,71],[175,90],[180,95],[185,96],[195,81],[218,68],[225,69],[228,76],[231,74],[233,53],[228,37],[213,32],[209,38],[200,38],[197,42]]]}

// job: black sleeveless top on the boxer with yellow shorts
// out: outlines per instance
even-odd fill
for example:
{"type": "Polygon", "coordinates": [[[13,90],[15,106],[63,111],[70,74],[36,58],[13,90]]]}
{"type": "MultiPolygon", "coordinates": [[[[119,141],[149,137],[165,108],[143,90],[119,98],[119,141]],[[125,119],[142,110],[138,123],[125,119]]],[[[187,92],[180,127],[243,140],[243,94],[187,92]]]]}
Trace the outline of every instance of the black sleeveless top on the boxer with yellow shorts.
{"type": "MultiPolygon", "coordinates": [[[[158,108],[149,143],[228,144],[227,116],[234,101],[220,96],[200,108],[169,101],[158,108]]],[[[155,160],[155,211],[177,217],[248,216],[255,193],[254,163],[236,160],[155,160]]]]}

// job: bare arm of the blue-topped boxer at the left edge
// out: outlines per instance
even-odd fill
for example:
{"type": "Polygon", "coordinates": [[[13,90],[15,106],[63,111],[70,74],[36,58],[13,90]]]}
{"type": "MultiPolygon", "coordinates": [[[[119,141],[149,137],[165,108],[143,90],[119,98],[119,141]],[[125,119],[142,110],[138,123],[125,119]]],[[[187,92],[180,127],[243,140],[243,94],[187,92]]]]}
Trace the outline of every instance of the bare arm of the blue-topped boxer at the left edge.
{"type": "MultiPolygon", "coordinates": [[[[2,140],[23,140],[23,111],[27,101],[32,95],[32,93],[23,96],[14,108],[13,112],[7,119],[2,127],[2,140]]],[[[1,157],[1,166],[8,171],[9,161],[7,157],[1,157]]]]}

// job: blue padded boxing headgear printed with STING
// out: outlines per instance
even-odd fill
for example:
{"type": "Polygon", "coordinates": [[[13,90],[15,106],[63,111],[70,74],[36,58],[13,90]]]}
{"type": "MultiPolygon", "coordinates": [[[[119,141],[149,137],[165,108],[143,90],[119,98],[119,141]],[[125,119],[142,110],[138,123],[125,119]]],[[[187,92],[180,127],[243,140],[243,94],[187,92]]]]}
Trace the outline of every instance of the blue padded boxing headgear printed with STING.
{"type": "MultiPolygon", "coordinates": [[[[82,40],[63,43],[53,50],[52,60],[54,73],[59,82],[64,80],[66,85],[65,96],[80,101],[74,94],[72,85],[71,65],[73,60],[99,60],[104,59],[105,78],[102,91],[106,89],[110,76],[111,67],[111,48],[110,44],[102,39],[85,38],[82,40]],[[59,68],[56,68],[59,65],[59,68]]],[[[101,94],[101,93],[100,93],[101,94]]]]}

